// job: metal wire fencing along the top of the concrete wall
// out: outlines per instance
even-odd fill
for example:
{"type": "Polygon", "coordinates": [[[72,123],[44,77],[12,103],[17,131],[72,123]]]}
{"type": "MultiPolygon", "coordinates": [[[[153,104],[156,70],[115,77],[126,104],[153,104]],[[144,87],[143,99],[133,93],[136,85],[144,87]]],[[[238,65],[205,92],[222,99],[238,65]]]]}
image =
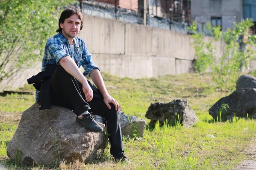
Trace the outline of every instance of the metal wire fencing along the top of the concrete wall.
{"type": "MultiPolygon", "coordinates": [[[[105,1],[109,2],[111,0],[105,1]]],[[[82,13],[88,15],[116,19],[125,23],[144,24],[143,14],[140,12],[140,10],[134,11],[131,9],[121,8],[117,3],[114,3],[117,0],[112,1],[113,3],[110,4],[106,2],[99,2],[96,0],[83,0],[80,1],[81,11],[82,13]]],[[[128,1],[126,2],[128,3],[128,1]]],[[[167,14],[164,15],[164,17],[162,18],[149,14],[148,12],[146,14],[146,24],[152,27],[171,29],[181,33],[187,33],[188,27],[188,24],[185,22],[170,20],[170,17],[167,14]]]]}

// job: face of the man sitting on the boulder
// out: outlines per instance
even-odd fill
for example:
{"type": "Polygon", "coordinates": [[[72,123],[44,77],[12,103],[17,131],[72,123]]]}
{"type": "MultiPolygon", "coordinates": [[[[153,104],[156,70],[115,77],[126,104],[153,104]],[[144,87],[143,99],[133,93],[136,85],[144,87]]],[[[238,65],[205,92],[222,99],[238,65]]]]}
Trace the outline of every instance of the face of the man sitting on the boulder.
{"type": "Polygon", "coordinates": [[[67,39],[73,39],[80,31],[81,20],[76,14],[66,18],[64,23],[61,23],[62,33],[67,39]]]}

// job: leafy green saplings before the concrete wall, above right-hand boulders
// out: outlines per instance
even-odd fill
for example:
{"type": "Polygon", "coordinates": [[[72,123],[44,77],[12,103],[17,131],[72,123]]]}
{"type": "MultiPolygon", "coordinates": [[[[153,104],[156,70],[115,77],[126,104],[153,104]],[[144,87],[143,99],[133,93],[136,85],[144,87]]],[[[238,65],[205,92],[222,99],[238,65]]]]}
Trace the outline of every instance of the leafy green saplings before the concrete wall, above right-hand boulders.
{"type": "Polygon", "coordinates": [[[205,42],[202,33],[196,31],[196,25],[195,21],[189,28],[194,33],[191,36],[194,39],[196,71],[204,72],[210,68],[213,80],[220,88],[234,88],[243,68],[249,69],[249,61],[256,59],[255,37],[249,34],[250,27],[253,26],[252,20],[235,23],[233,28],[227,31],[220,31],[220,26],[209,27],[214,41],[225,42],[222,56],[215,55],[213,40],[205,42]]]}

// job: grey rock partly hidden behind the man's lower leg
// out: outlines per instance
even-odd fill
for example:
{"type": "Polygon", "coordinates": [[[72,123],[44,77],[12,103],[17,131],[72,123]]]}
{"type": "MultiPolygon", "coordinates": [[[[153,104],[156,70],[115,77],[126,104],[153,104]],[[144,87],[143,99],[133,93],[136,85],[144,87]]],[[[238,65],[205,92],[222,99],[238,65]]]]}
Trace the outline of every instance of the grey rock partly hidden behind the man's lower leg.
{"type": "MultiPolygon", "coordinates": [[[[121,124],[121,131],[122,135],[129,135],[130,137],[133,137],[137,131],[138,135],[140,137],[143,137],[144,130],[146,128],[146,121],[144,119],[140,119],[136,116],[129,116],[126,115],[121,107],[119,108],[119,116],[120,116],[120,124],[121,124]]],[[[94,118],[103,123],[103,119],[100,116],[93,115],[94,118]]]]}

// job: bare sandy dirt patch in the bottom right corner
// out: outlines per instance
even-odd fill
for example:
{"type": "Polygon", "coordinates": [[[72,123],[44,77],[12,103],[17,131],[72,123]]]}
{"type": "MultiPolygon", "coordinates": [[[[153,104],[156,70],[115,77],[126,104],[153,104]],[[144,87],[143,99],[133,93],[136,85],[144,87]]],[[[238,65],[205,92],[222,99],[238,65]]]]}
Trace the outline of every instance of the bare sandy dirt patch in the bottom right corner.
{"type": "Polygon", "coordinates": [[[249,145],[243,150],[243,153],[247,155],[248,159],[241,162],[233,170],[256,170],[256,134],[254,134],[249,145]]]}

